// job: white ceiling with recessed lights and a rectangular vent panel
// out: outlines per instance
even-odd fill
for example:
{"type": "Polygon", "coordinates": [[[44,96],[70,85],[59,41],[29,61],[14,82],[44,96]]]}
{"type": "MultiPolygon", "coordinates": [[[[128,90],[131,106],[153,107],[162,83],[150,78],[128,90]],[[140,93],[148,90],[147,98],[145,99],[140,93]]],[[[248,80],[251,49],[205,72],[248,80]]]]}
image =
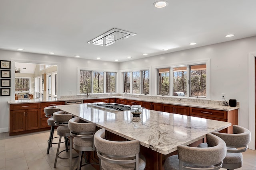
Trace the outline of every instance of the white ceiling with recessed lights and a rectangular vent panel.
{"type": "Polygon", "coordinates": [[[122,62],[256,35],[256,0],[167,1],[158,9],[155,0],[0,0],[0,49],[122,62]],[[87,43],[112,28],[137,35],[87,43]]]}

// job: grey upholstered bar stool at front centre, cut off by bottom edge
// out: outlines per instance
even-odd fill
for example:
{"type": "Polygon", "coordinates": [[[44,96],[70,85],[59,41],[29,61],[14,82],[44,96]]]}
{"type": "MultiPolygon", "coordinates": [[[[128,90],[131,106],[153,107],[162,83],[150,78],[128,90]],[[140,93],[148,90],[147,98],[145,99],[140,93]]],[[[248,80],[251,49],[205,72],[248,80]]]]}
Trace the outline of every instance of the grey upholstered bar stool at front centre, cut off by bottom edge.
{"type": "Polygon", "coordinates": [[[144,170],[146,159],[139,156],[140,141],[109,141],[105,129],[96,131],[94,145],[99,157],[101,170],[144,170]]]}

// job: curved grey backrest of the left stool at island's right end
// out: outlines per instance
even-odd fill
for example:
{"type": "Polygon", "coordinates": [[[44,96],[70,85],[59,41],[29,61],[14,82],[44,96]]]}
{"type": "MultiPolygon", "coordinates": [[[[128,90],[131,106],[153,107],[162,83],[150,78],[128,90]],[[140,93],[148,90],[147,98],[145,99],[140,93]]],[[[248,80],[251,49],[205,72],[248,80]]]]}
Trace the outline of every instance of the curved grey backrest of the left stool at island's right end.
{"type": "MultiPolygon", "coordinates": [[[[180,169],[184,169],[187,165],[211,166],[212,170],[222,167],[222,160],[226,156],[226,143],[219,137],[207,134],[208,148],[178,146],[178,158],[180,160],[180,169]]],[[[193,168],[192,168],[193,169],[193,168]]],[[[209,169],[209,170],[210,170],[209,169]]]]}

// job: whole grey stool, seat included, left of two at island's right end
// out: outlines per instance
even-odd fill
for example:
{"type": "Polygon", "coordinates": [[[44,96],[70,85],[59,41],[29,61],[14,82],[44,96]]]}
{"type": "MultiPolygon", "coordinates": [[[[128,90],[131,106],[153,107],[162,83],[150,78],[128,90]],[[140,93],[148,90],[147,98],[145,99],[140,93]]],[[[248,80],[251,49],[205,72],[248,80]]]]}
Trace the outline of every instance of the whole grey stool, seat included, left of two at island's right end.
{"type": "Polygon", "coordinates": [[[218,170],[226,156],[226,144],[219,137],[208,133],[210,147],[198,148],[179,145],[178,155],[168,157],[164,162],[165,170],[218,170]]]}

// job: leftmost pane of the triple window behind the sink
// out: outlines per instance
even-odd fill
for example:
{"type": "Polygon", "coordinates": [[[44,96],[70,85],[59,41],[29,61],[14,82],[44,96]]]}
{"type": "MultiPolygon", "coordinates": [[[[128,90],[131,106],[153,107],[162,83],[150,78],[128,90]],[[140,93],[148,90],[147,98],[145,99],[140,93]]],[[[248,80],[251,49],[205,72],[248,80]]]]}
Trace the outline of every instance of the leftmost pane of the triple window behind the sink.
{"type": "Polygon", "coordinates": [[[91,93],[92,71],[80,70],[80,94],[91,93]]]}

